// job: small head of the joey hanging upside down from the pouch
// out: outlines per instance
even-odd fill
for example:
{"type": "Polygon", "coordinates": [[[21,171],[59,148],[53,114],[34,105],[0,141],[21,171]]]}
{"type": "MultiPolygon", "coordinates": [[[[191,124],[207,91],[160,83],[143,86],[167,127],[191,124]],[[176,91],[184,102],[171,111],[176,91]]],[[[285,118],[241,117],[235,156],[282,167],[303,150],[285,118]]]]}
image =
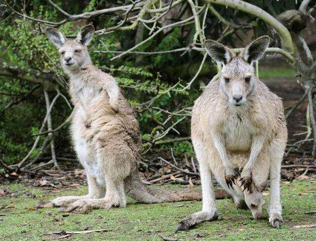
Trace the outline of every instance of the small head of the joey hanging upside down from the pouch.
{"type": "Polygon", "coordinates": [[[251,210],[252,216],[255,219],[262,217],[262,207],[266,204],[262,192],[266,189],[269,182],[270,180],[267,180],[261,184],[257,184],[253,181],[250,189],[243,192],[245,196],[245,203],[251,210]]]}

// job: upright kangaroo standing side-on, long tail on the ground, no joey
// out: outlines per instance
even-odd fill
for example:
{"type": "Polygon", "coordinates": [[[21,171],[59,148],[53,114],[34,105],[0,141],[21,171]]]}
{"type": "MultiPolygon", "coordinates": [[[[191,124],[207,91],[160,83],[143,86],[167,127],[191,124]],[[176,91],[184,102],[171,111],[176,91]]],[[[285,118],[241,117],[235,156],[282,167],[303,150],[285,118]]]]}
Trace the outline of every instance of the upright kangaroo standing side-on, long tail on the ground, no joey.
{"type": "MultiPolygon", "coordinates": [[[[142,203],[201,200],[199,190],[150,189],[141,182],[139,124],[116,80],[92,64],[87,45],[94,27],[83,27],[76,39],[66,39],[50,27],[45,33],[58,47],[61,66],[70,77],[69,92],[75,106],[71,136],[86,171],[89,193],[40,202],[36,207],[76,212],[125,207],[125,192],[142,203]]],[[[228,194],[218,190],[217,198],[225,197],[228,194]]]]}

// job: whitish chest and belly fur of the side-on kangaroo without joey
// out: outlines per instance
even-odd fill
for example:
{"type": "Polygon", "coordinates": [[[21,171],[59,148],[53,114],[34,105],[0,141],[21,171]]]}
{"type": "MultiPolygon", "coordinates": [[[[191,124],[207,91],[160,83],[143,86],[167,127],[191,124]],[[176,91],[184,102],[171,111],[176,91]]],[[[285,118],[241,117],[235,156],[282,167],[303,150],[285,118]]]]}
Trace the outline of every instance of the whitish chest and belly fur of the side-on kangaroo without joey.
{"type": "Polygon", "coordinates": [[[102,89],[81,78],[71,78],[71,96],[75,103],[75,115],[72,123],[72,136],[80,163],[90,176],[95,177],[99,185],[105,185],[105,174],[96,157],[95,145],[87,140],[89,130],[85,122],[89,119],[90,104],[103,99],[102,89]]]}

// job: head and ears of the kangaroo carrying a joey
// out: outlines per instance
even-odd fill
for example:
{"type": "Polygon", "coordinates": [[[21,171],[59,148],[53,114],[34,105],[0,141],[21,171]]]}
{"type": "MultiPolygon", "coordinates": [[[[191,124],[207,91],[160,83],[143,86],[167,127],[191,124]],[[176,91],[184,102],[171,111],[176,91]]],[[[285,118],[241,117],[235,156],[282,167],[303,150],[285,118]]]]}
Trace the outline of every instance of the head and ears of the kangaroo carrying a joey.
{"type": "Polygon", "coordinates": [[[247,96],[253,92],[257,81],[252,64],[264,55],[269,45],[269,37],[257,38],[240,54],[235,54],[228,47],[214,40],[206,40],[204,44],[212,59],[223,64],[219,80],[221,92],[234,106],[246,103],[247,96]]]}

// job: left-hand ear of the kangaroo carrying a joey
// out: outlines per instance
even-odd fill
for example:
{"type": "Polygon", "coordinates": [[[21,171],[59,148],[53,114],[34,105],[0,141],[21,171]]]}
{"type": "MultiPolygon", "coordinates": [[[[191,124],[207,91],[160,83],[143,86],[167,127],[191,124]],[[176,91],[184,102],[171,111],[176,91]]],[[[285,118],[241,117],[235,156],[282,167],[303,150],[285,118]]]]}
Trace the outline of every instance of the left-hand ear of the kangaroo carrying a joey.
{"type": "Polygon", "coordinates": [[[221,62],[226,65],[232,60],[231,51],[223,44],[214,40],[206,40],[204,45],[207,53],[216,62],[221,62]]]}

